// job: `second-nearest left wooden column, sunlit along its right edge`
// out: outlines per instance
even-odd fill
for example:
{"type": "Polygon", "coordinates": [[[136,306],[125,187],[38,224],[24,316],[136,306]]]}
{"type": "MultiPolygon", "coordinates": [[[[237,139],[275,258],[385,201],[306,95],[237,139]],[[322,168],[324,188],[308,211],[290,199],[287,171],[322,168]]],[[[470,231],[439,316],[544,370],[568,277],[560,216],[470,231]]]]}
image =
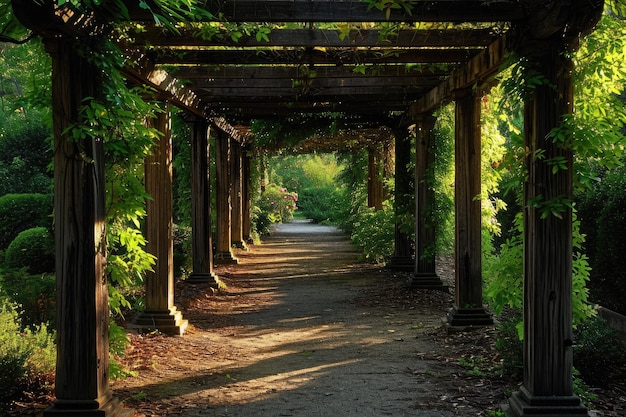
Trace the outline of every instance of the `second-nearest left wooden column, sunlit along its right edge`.
{"type": "Polygon", "coordinates": [[[156,257],[146,272],[146,309],[133,327],[182,335],[187,320],[174,306],[174,233],[172,219],[172,135],[169,104],[148,124],[162,133],[145,161],[145,188],[152,197],[146,203],[146,250],[156,257]]]}

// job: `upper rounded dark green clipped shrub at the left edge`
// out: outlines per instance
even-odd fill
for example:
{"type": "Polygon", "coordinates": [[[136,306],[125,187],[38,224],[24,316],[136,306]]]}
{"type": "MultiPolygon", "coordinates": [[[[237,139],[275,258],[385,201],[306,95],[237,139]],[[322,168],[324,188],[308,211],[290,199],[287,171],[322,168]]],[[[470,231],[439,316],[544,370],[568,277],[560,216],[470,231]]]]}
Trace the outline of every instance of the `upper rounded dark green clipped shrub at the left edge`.
{"type": "Polygon", "coordinates": [[[6,248],[22,231],[52,227],[52,196],[7,194],[0,197],[0,248],[6,248]]]}

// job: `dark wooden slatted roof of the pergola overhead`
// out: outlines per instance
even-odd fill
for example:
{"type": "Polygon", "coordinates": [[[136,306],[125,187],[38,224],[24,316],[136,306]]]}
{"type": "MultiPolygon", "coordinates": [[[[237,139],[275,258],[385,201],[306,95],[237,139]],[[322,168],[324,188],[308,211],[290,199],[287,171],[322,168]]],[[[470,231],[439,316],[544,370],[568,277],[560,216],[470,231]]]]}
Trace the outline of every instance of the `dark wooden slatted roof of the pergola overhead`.
{"type": "MultiPolygon", "coordinates": [[[[166,32],[128,2],[131,20],[145,30],[120,42],[137,63],[126,71],[130,79],[197,115],[246,123],[293,112],[421,113],[456,90],[488,83],[520,39],[568,30],[575,37],[572,22],[597,13],[583,0],[396,3],[402,6],[379,10],[357,0],[212,0],[207,10],[224,26],[205,23],[213,25],[209,37],[200,25],[166,32]],[[233,23],[257,29],[235,40],[233,23]],[[258,24],[269,30],[257,36],[258,24]]],[[[55,30],[66,33],[95,32],[106,20],[80,17],[72,26],[61,12],[55,30]]],[[[46,24],[43,30],[55,26],[46,24]]]]}

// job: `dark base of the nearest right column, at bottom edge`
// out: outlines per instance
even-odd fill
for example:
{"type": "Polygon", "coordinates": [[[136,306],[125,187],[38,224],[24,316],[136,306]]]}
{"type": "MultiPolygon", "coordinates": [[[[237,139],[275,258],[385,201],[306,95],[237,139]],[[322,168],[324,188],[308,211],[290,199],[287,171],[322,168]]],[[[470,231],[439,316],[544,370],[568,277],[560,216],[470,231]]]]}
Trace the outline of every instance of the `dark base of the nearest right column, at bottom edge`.
{"type": "Polygon", "coordinates": [[[577,396],[533,396],[524,386],[503,407],[507,417],[593,417],[577,396]]]}

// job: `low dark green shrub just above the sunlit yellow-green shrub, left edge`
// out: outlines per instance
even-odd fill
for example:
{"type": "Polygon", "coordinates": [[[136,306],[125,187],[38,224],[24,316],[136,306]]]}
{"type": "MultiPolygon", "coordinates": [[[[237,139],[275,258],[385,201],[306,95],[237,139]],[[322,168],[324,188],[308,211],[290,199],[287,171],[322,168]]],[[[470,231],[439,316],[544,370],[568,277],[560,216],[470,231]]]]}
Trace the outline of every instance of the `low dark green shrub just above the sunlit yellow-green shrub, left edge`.
{"type": "Polygon", "coordinates": [[[20,306],[24,326],[56,325],[56,279],[54,274],[29,274],[26,268],[0,269],[0,297],[20,306]]]}

